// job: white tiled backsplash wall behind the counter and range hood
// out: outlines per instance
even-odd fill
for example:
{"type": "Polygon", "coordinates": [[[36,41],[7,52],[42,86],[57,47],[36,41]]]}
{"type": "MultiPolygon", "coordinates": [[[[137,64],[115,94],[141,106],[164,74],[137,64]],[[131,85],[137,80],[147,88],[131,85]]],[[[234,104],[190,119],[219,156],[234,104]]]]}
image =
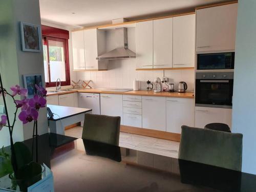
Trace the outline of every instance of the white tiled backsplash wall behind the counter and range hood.
{"type": "MultiPolygon", "coordinates": [[[[128,28],[128,47],[135,50],[135,28],[128,28]]],[[[115,49],[114,30],[106,32],[106,50],[115,49]]],[[[146,88],[147,80],[153,81],[156,77],[166,76],[169,82],[175,83],[178,88],[179,81],[188,84],[188,91],[194,90],[194,70],[159,70],[136,71],[136,59],[112,60],[108,63],[108,71],[76,72],[77,80],[92,80],[93,87],[100,88],[133,88],[133,80],[140,80],[140,88],[146,88]]]]}

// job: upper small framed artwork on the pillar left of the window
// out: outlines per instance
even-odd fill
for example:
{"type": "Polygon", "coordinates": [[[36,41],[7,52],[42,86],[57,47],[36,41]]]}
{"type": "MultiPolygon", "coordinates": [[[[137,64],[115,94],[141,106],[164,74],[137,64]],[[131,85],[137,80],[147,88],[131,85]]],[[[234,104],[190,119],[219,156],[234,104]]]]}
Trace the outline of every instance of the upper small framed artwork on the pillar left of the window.
{"type": "Polygon", "coordinates": [[[41,26],[20,22],[22,50],[41,52],[41,26]]]}

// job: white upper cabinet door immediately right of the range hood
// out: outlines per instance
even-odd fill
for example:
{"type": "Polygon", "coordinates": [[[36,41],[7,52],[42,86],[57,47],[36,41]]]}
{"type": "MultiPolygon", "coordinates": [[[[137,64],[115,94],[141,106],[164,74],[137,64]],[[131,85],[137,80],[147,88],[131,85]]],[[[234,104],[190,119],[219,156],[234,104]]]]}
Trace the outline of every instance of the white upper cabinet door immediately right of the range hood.
{"type": "Polygon", "coordinates": [[[136,23],[136,68],[153,68],[153,20],[136,23]]]}

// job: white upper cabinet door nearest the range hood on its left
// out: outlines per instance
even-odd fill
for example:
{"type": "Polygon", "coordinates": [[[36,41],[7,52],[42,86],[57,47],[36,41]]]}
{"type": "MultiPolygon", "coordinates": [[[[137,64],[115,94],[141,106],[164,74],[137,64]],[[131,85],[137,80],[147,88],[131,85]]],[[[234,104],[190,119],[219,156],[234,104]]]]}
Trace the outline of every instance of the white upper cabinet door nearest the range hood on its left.
{"type": "Polygon", "coordinates": [[[97,29],[84,30],[84,54],[86,57],[86,70],[97,70],[97,29]]]}

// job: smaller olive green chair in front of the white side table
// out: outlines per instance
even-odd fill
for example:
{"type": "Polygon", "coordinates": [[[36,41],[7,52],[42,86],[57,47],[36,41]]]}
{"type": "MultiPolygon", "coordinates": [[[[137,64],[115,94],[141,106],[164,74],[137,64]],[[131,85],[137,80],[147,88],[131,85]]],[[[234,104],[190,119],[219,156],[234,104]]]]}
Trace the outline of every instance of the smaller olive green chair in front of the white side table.
{"type": "Polygon", "coordinates": [[[119,145],[120,117],[86,114],[82,139],[119,145]]]}

